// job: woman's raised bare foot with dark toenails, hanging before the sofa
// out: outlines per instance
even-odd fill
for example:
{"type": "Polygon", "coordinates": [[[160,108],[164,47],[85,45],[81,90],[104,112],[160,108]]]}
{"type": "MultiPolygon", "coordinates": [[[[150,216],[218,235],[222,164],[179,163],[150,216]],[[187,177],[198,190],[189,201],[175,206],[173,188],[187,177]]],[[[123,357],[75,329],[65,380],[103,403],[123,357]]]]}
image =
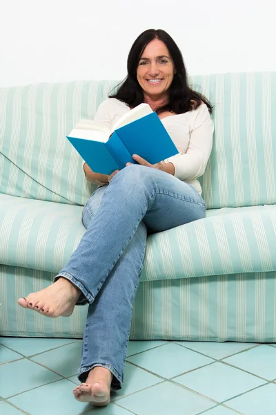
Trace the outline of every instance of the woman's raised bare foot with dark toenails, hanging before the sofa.
{"type": "Polygon", "coordinates": [[[68,279],[60,277],[57,282],[28,297],[18,299],[19,306],[39,311],[47,317],[68,317],[72,314],[81,291],[68,279]]]}

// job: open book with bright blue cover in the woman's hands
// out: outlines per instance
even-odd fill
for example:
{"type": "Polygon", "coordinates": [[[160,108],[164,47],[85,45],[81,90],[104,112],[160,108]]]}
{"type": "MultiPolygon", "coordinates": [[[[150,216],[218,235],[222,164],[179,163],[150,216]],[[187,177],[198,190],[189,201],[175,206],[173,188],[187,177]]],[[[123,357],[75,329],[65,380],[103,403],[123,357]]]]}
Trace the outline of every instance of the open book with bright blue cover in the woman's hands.
{"type": "Polygon", "coordinates": [[[164,125],[148,104],[128,111],[110,131],[105,124],[80,120],[67,136],[83,160],[95,173],[111,174],[136,163],[138,154],[150,164],[178,153],[164,125]]]}

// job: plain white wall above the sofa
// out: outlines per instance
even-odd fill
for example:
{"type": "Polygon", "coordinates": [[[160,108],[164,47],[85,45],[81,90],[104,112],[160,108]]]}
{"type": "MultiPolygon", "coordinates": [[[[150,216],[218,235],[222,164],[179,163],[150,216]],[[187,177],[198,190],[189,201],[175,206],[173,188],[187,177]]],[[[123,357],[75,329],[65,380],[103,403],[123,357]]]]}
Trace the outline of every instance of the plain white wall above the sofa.
{"type": "Polygon", "coordinates": [[[190,75],[276,71],[275,0],[1,0],[0,86],[121,80],[148,28],[175,39],[190,75]]]}

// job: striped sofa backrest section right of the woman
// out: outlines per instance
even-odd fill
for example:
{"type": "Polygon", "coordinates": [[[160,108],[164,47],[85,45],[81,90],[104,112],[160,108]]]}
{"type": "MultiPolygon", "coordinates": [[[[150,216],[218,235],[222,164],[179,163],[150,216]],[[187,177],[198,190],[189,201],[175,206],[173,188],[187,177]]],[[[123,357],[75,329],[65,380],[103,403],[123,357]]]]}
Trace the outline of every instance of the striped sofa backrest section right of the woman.
{"type": "Polygon", "coordinates": [[[275,204],[276,72],[197,76],[191,83],[215,106],[213,151],[200,179],[207,207],[275,204]]]}

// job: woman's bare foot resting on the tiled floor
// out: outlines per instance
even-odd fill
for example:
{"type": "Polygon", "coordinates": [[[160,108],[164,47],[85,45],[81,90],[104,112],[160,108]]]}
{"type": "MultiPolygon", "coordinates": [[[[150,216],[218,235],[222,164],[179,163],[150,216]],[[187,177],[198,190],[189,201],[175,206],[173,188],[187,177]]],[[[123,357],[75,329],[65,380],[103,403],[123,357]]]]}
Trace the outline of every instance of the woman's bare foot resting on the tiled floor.
{"type": "Polygon", "coordinates": [[[112,377],[112,373],[106,367],[94,367],[90,370],[86,383],[81,383],[73,390],[75,398],[95,406],[108,405],[112,377]]]}

